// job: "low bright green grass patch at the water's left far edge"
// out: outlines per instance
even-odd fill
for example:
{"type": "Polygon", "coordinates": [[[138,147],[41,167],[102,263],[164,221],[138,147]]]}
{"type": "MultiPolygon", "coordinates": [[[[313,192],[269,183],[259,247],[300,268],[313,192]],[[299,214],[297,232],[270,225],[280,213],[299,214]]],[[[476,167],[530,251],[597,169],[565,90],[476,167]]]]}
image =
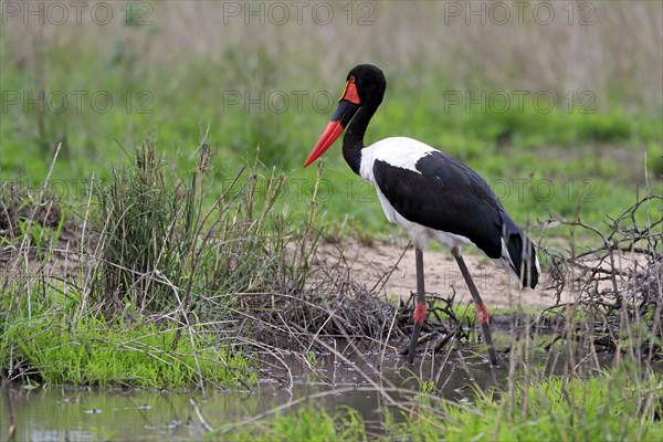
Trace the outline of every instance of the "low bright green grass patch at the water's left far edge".
{"type": "Polygon", "coordinates": [[[177,336],[176,329],[151,323],[86,318],[72,325],[46,315],[13,322],[4,339],[17,346],[18,364],[32,367],[46,385],[164,388],[204,380],[234,388],[240,380],[257,380],[248,359],[215,349],[211,335],[192,330],[191,340],[177,336]]]}

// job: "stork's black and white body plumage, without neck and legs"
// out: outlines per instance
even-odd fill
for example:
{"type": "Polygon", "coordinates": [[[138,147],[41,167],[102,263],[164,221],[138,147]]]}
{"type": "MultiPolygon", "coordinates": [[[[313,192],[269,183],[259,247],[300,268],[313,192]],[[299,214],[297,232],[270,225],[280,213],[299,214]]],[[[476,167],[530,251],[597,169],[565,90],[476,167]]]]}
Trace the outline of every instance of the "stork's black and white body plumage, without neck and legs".
{"type": "Polygon", "coordinates": [[[534,245],[474,170],[411,138],[365,148],[361,164],[361,177],[375,185],[387,219],[417,248],[425,250],[430,239],[450,250],[473,245],[523,286],[536,286],[534,245]]]}

